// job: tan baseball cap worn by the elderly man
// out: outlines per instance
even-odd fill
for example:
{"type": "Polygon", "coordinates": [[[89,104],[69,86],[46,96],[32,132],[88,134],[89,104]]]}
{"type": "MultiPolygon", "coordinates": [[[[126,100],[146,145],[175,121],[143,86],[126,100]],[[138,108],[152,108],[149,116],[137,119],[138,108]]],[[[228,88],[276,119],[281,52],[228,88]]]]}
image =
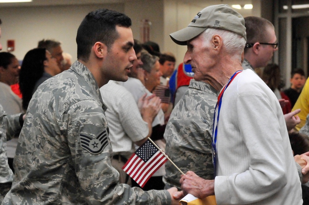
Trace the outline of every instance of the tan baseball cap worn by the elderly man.
{"type": "Polygon", "coordinates": [[[223,29],[246,37],[245,20],[242,15],[228,5],[207,6],[197,13],[188,27],[171,33],[171,39],[179,45],[187,45],[187,41],[201,34],[207,28],[223,29]]]}

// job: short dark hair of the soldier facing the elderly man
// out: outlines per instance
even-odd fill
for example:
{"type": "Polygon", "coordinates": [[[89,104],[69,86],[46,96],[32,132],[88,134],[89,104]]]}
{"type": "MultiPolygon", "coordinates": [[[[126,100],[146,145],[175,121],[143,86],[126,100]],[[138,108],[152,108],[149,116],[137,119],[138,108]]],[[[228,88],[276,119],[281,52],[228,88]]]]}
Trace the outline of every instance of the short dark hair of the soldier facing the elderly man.
{"type": "Polygon", "coordinates": [[[116,26],[130,27],[131,19],[108,9],[98,9],[87,14],[77,30],[77,58],[87,62],[92,46],[98,41],[109,49],[119,37],[116,26]]]}

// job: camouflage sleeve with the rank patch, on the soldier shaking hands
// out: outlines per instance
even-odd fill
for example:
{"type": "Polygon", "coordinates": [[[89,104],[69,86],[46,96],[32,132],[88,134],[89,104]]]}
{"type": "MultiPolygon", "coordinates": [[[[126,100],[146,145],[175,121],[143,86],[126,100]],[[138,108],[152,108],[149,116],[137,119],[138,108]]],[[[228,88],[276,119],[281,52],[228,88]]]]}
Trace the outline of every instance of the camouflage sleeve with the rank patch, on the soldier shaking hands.
{"type": "MultiPolygon", "coordinates": [[[[112,146],[104,110],[93,100],[70,107],[67,138],[76,176],[87,204],[170,204],[167,191],[145,192],[118,184],[119,173],[111,165],[112,146]]],[[[74,187],[72,190],[74,192],[74,187]]]]}

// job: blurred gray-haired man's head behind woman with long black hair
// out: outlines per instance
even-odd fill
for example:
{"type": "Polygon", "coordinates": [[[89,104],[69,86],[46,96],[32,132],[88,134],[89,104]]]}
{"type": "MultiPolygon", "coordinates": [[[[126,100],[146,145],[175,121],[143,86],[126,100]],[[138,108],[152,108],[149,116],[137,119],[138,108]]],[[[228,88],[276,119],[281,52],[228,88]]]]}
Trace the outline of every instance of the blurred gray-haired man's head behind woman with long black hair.
{"type": "MultiPolygon", "coordinates": [[[[43,39],[39,41],[38,43],[38,48],[45,48],[50,52],[50,54],[56,58],[57,60],[57,65],[60,69],[59,73],[63,71],[62,69],[62,61],[63,61],[63,56],[62,56],[62,48],[61,48],[61,43],[56,40],[49,40],[49,39],[43,39]]],[[[58,74],[58,73],[56,73],[58,74]]]]}

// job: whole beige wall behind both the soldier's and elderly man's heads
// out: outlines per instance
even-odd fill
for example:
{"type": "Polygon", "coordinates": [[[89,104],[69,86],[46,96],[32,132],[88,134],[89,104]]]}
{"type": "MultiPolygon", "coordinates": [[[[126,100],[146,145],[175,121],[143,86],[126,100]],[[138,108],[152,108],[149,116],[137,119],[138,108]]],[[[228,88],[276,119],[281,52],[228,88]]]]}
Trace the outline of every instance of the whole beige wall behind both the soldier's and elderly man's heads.
{"type": "MultiPolygon", "coordinates": [[[[260,7],[268,8],[271,0],[222,0],[220,3],[232,5],[249,2],[252,10],[237,10],[241,15],[261,16],[260,7]],[[266,3],[265,3],[266,2],[266,3]]],[[[140,40],[142,19],[149,19],[150,40],[159,44],[161,52],[172,52],[176,55],[177,65],[183,61],[186,46],[172,42],[169,34],[187,27],[193,17],[206,6],[218,4],[210,0],[135,0],[119,4],[92,4],[72,6],[32,6],[32,7],[0,7],[2,19],[3,51],[6,51],[6,41],[15,40],[15,51],[18,59],[23,59],[26,52],[37,46],[43,38],[56,39],[62,42],[64,52],[69,52],[76,60],[76,31],[82,19],[91,10],[108,8],[120,11],[132,19],[133,37],[140,40]]],[[[269,12],[264,12],[269,14],[269,12]]]]}

